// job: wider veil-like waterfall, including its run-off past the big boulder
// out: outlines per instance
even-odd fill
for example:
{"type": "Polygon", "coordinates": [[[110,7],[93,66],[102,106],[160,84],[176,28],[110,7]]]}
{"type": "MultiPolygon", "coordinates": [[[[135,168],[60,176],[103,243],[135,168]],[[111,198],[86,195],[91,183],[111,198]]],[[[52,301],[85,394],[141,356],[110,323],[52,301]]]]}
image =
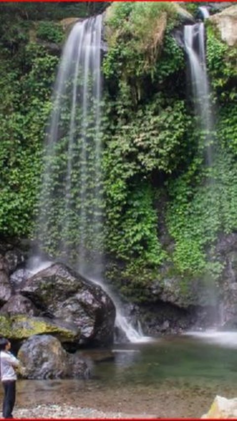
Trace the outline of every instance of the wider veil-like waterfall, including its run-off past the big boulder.
{"type": "MultiPolygon", "coordinates": [[[[103,178],[101,132],[102,15],[77,23],[65,44],[46,135],[37,224],[40,250],[100,284],[116,306],[116,325],[130,342],[144,341],[122,316],[103,281],[103,178]],[[56,252],[55,252],[56,251],[56,252]]],[[[33,257],[35,273],[49,263],[33,257]]]]}

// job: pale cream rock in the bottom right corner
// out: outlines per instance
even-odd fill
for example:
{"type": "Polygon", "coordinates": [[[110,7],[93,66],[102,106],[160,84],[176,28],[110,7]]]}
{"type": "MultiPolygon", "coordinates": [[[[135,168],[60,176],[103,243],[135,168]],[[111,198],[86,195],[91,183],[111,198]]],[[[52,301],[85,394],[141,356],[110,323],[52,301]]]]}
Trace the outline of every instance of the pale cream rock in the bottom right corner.
{"type": "Polygon", "coordinates": [[[237,418],[237,398],[226,399],[222,396],[216,396],[208,413],[201,418],[237,418]]]}

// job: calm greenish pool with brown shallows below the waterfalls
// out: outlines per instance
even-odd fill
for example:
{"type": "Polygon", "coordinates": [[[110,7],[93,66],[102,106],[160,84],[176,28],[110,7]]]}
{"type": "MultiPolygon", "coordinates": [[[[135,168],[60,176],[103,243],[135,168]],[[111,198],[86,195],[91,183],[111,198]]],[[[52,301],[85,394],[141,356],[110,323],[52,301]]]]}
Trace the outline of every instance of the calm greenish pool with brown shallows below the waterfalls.
{"type": "Polygon", "coordinates": [[[217,394],[237,396],[236,333],[191,333],[83,354],[94,360],[91,379],[18,381],[17,405],[199,418],[217,394]]]}

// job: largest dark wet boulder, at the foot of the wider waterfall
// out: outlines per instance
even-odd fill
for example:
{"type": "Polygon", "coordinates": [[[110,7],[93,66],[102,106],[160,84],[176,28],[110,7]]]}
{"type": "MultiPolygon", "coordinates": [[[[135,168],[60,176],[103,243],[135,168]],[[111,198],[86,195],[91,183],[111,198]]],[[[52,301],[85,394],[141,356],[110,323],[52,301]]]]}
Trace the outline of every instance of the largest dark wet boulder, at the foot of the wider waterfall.
{"type": "Polygon", "coordinates": [[[63,264],[53,264],[27,279],[20,293],[40,311],[77,326],[80,342],[113,342],[115,306],[99,285],[63,264]]]}

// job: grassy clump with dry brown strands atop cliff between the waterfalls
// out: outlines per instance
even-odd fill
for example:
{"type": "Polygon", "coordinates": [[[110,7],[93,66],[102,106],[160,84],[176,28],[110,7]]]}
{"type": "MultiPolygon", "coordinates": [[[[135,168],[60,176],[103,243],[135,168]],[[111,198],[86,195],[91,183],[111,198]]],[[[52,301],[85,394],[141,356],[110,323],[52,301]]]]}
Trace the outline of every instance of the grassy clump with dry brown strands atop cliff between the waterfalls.
{"type": "Polygon", "coordinates": [[[105,75],[153,77],[165,30],[177,22],[178,7],[173,2],[114,2],[105,18],[109,44],[105,75]],[[118,57],[118,67],[113,69],[118,57]]]}

